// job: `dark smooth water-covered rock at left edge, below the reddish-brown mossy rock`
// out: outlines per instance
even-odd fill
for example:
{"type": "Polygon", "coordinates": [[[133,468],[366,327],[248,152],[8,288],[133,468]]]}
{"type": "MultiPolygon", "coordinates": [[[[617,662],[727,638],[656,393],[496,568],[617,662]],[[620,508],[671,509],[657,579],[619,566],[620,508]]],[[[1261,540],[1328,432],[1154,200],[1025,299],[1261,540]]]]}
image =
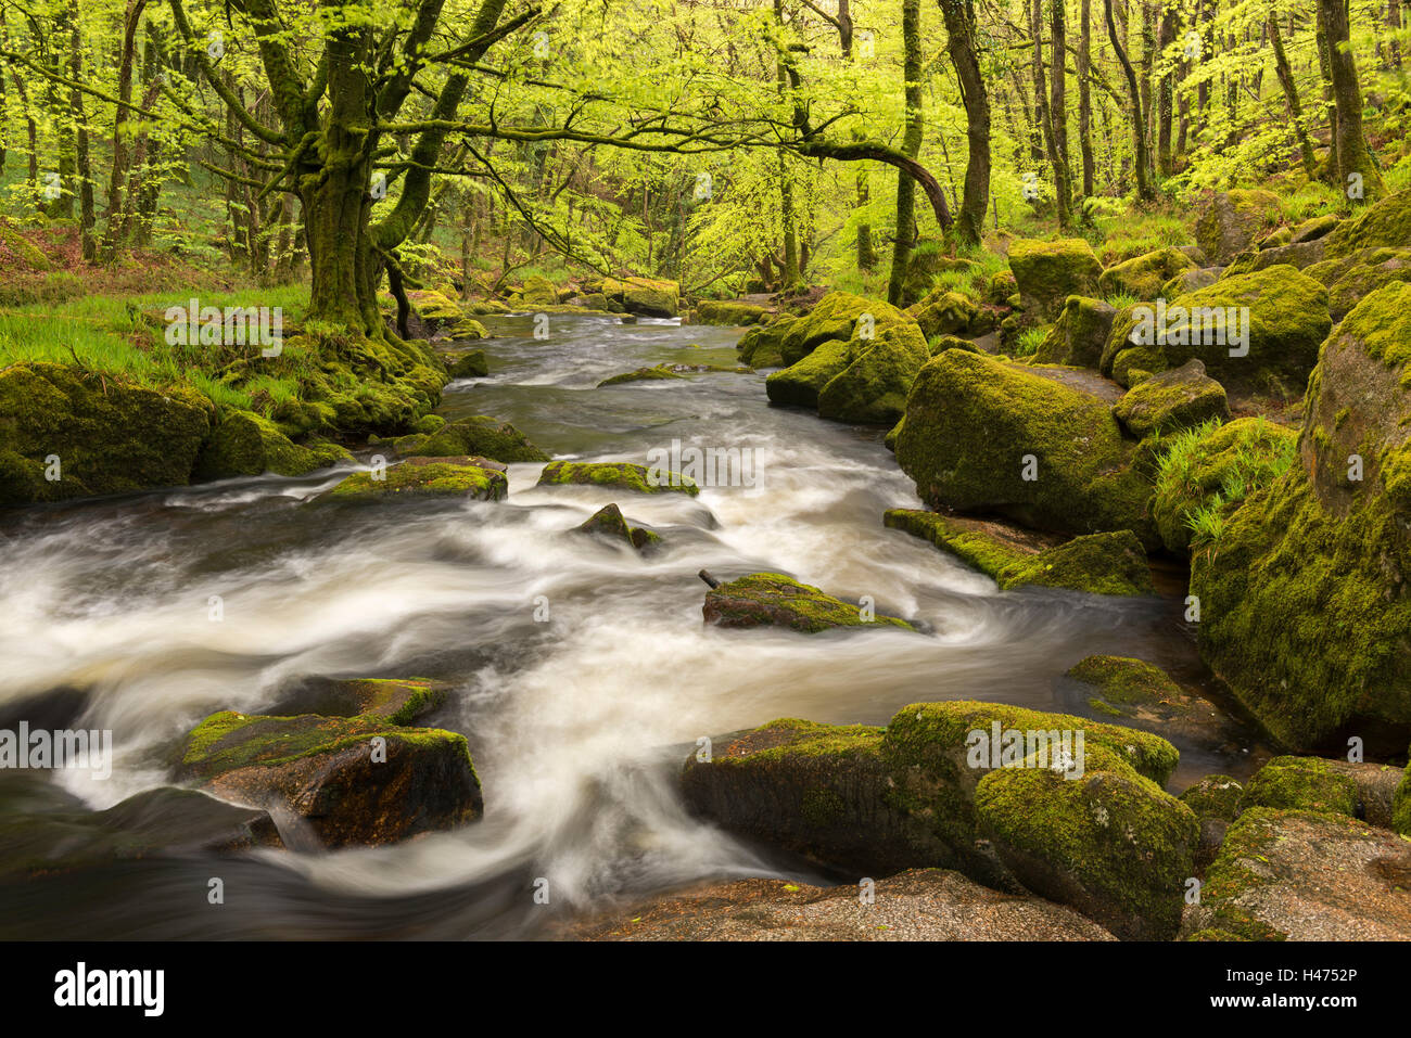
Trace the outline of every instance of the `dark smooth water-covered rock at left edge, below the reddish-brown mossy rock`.
{"type": "Polygon", "coordinates": [[[0,877],[48,876],[119,860],[238,853],[282,848],[265,811],[236,807],[193,790],[147,790],[107,808],[78,802],[17,802],[11,778],[0,790],[0,877]]]}

